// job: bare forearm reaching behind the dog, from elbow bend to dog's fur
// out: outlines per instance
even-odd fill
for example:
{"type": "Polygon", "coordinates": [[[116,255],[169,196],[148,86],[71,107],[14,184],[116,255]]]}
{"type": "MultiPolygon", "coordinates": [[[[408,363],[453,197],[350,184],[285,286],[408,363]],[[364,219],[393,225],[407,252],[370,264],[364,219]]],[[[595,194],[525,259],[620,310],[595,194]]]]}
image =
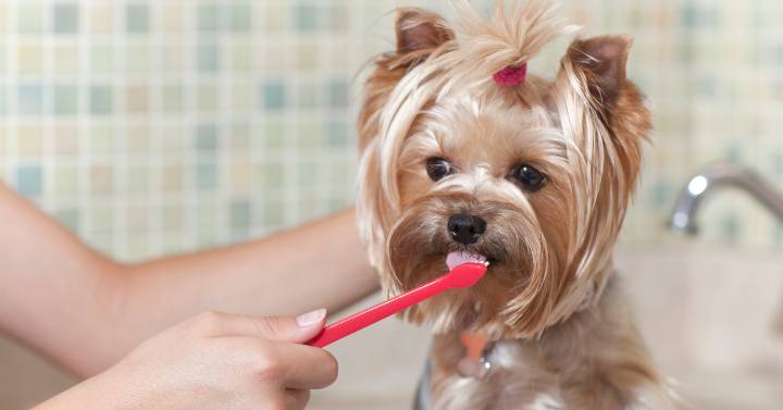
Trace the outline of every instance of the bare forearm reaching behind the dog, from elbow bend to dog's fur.
{"type": "Polygon", "coordinates": [[[359,300],[378,285],[353,218],[344,211],[251,243],[130,266],[122,339],[140,341],[203,310],[289,315],[359,300]]]}

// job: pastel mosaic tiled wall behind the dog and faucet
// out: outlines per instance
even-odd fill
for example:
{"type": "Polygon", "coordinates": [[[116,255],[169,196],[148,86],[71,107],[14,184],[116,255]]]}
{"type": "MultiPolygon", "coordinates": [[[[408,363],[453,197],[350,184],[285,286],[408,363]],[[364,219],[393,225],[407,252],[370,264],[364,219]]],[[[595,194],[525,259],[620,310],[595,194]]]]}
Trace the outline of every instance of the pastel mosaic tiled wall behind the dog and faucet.
{"type": "MultiPolygon", "coordinates": [[[[398,4],[445,9],[389,0],[0,2],[0,174],[91,245],[130,260],[243,240],[346,207],[356,74],[391,47],[387,12],[398,4]]],[[[563,5],[588,33],[634,35],[631,75],[656,113],[624,240],[666,240],[676,190],[709,161],[783,177],[781,2],[563,5]]],[[[551,53],[532,70],[546,73],[555,61],[551,53]]],[[[706,240],[783,243],[783,228],[738,196],[722,196],[704,216],[706,240]]]]}

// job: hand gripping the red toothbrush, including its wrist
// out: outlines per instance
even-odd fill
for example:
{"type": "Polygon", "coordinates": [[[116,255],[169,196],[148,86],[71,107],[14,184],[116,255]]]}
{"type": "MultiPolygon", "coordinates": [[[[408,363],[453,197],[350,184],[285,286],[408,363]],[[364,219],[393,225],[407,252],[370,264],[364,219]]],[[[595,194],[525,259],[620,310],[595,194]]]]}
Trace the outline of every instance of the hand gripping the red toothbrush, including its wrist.
{"type": "Polygon", "coordinates": [[[303,409],[310,389],[337,377],[332,355],[301,345],[323,328],[324,316],[324,310],[297,319],[202,313],[39,410],[303,409]]]}

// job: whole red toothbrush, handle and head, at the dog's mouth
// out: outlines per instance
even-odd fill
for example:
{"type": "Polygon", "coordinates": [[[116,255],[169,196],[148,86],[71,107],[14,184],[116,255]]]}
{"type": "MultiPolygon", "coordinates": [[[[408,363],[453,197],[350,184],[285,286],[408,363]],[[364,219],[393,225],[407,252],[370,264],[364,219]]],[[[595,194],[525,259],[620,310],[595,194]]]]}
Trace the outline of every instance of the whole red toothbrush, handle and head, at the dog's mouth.
{"type": "Polygon", "coordinates": [[[324,347],[444,290],[473,286],[484,276],[488,264],[488,262],[462,263],[434,281],[325,326],[307,344],[324,347]]]}

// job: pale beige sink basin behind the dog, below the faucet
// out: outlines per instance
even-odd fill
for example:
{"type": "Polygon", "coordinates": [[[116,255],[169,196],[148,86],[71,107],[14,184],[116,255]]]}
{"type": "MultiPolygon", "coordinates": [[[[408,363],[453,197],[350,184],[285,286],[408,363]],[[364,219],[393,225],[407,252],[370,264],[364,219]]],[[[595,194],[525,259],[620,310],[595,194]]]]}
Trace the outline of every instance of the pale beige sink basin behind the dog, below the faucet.
{"type": "MultiPolygon", "coordinates": [[[[684,238],[669,244],[620,247],[617,265],[639,327],[684,408],[779,409],[783,333],[773,323],[783,308],[783,257],[684,238]]],[[[425,330],[388,320],[340,340],[330,348],[340,363],[339,380],[313,393],[309,409],[410,408],[428,339],[425,330]]]]}

